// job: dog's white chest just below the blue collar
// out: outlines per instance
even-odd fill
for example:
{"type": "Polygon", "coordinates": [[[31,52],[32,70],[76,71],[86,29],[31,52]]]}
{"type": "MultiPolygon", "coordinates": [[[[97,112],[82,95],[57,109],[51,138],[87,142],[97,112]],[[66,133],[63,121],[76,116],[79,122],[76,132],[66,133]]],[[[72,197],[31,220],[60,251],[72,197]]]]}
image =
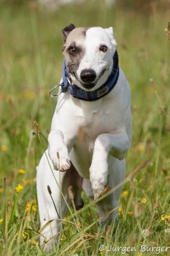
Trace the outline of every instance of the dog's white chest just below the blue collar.
{"type": "Polygon", "coordinates": [[[93,148],[97,136],[121,129],[122,113],[118,98],[112,93],[102,99],[88,102],[69,98],[59,104],[57,123],[65,136],[74,138],[74,145],[81,150],[93,148]],[[60,108],[59,108],[60,107],[60,108]]]}

